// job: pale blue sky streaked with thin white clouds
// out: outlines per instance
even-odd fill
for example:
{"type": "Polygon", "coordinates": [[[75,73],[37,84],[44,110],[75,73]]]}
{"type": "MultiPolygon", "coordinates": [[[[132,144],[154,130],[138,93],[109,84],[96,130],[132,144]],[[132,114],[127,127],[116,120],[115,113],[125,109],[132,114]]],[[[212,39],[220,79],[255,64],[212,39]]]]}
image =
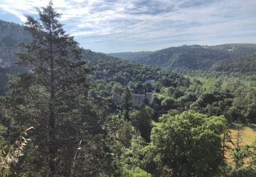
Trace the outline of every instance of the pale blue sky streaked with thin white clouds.
{"type": "MultiPolygon", "coordinates": [[[[48,0],[1,0],[0,19],[23,24],[48,0]]],[[[53,0],[64,29],[96,52],[184,44],[256,43],[256,0],[53,0]]]]}

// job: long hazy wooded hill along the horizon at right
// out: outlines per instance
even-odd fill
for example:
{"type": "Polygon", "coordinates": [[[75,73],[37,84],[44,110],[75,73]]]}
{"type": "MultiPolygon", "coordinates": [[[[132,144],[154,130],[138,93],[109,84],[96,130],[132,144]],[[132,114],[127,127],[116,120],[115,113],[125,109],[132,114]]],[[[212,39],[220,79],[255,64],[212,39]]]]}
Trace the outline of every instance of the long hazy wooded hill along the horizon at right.
{"type": "MultiPolygon", "coordinates": [[[[137,53],[137,52],[135,52],[137,53]]],[[[150,52],[137,58],[132,58],[132,61],[137,63],[143,63],[145,65],[155,65],[159,67],[169,67],[171,69],[217,69],[220,71],[221,67],[218,65],[229,65],[229,69],[225,71],[238,71],[234,69],[238,65],[239,60],[247,58],[247,62],[250,61],[251,65],[255,65],[256,59],[256,44],[222,44],[217,46],[180,46],[165,48],[150,52]],[[249,56],[247,56],[249,55],[249,56]],[[248,60],[248,58],[251,58],[248,60]]],[[[122,54],[112,54],[119,56],[122,59],[122,54]]],[[[135,55],[134,55],[135,56],[135,55]]],[[[246,62],[240,63],[241,67],[248,65],[246,62]]],[[[256,68],[251,68],[256,71],[256,68]]],[[[240,70],[242,71],[242,70],[240,70]]],[[[242,72],[246,70],[243,69],[242,72]]]]}

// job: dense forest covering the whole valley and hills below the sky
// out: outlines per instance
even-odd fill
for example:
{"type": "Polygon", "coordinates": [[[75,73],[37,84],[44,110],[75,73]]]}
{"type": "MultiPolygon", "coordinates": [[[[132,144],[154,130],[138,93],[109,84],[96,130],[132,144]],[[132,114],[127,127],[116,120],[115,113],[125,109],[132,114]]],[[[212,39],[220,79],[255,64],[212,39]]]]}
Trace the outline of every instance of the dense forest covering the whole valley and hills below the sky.
{"type": "Polygon", "coordinates": [[[106,55],[38,15],[0,21],[0,176],[256,176],[256,44],[106,55]]]}

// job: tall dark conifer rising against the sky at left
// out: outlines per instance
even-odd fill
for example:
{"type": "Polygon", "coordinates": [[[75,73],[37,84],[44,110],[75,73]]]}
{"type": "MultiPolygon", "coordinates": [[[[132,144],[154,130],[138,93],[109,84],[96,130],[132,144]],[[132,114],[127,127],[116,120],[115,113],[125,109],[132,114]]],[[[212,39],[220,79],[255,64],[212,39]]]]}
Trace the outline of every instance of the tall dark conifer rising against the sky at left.
{"type": "Polygon", "coordinates": [[[57,20],[60,14],[53,10],[53,3],[37,10],[40,19],[27,16],[25,23],[33,40],[21,44],[26,52],[18,54],[18,63],[33,71],[11,78],[6,103],[16,127],[35,127],[32,142],[38,146],[38,157],[32,165],[48,165],[53,176],[60,170],[70,171],[76,144],[81,142],[83,131],[78,127],[85,124],[83,100],[90,69],[79,44],[57,20]]]}

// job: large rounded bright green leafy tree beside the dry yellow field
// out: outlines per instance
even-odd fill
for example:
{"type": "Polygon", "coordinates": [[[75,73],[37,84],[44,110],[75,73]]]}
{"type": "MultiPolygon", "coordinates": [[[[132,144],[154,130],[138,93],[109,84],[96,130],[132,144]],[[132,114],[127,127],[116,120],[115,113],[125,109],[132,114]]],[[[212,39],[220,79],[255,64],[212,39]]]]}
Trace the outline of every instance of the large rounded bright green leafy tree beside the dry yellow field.
{"type": "Polygon", "coordinates": [[[217,174],[225,124],[223,116],[208,117],[193,111],[162,116],[151,138],[158,163],[167,170],[164,172],[173,176],[217,174]]]}

